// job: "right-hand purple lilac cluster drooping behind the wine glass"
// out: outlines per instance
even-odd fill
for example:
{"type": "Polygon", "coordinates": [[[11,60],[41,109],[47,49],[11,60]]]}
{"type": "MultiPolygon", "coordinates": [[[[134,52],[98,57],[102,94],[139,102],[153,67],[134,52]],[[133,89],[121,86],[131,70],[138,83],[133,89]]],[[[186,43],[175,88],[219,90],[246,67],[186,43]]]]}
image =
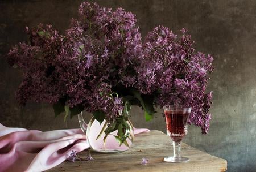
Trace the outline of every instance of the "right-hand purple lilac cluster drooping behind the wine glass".
{"type": "Polygon", "coordinates": [[[195,53],[191,36],[181,29],[178,38],[166,27],[155,27],[148,32],[143,43],[141,66],[137,68],[136,87],[144,94],[160,90],[155,104],[191,106],[189,124],[200,126],[202,133],[209,130],[210,100],[212,92],[205,93],[209,77],[213,71],[211,55],[195,53]]]}

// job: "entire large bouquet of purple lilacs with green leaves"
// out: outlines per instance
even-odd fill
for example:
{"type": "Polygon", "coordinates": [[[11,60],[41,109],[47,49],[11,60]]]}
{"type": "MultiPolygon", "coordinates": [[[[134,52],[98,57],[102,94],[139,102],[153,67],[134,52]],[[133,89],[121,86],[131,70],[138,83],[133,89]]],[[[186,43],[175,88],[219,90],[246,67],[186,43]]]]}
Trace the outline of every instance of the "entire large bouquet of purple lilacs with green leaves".
{"type": "MultiPolygon", "coordinates": [[[[48,102],[65,117],[86,110],[110,123],[106,134],[118,126],[125,133],[131,105],[141,106],[148,121],[155,106],[183,104],[192,106],[189,122],[206,134],[213,58],[195,53],[185,29],[178,37],[159,26],[142,42],[135,23],[135,15],[122,8],[84,2],[63,35],[51,25],[26,28],[30,40],[14,46],[8,58],[23,72],[19,104],[48,102]]],[[[121,132],[118,137],[126,139],[121,132]]]]}

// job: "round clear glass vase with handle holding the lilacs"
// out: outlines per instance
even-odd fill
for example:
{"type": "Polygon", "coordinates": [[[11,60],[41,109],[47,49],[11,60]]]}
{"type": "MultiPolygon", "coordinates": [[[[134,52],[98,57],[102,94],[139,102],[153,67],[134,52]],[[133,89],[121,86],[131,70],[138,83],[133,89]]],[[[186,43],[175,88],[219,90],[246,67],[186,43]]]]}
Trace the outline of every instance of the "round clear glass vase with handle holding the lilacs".
{"type": "Polygon", "coordinates": [[[100,122],[92,117],[87,124],[82,113],[78,114],[78,119],[80,127],[82,131],[86,134],[87,141],[92,151],[100,153],[119,153],[127,151],[131,147],[131,144],[133,144],[133,124],[129,119],[126,121],[126,123],[130,127],[130,129],[125,131],[125,134],[129,135],[129,137],[127,137],[125,143],[122,144],[119,144],[117,139],[115,139],[118,130],[110,132],[110,134],[106,136],[104,130],[108,127],[108,122],[105,119],[100,124],[100,122]],[[106,138],[104,138],[105,136],[106,138]]]}

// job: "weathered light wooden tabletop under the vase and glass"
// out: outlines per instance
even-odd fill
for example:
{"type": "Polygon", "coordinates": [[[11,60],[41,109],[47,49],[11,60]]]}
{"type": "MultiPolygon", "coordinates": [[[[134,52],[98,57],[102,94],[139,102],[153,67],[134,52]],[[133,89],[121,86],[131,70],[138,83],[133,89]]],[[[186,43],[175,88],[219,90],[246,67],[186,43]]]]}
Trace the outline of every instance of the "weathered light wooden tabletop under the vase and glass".
{"type": "MultiPolygon", "coordinates": [[[[163,157],[172,154],[170,137],[160,131],[150,131],[136,135],[129,151],[115,154],[92,152],[94,161],[63,162],[48,171],[226,171],[226,160],[187,144],[182,144],[181,153],[191,160],[184,163],[163,162],[163,157]],[[147,165],[141,164],[143,157],[148,159],[147,165]]],[[[88,151],[81,152],[79,156],[86,158],[88,151]]]]}

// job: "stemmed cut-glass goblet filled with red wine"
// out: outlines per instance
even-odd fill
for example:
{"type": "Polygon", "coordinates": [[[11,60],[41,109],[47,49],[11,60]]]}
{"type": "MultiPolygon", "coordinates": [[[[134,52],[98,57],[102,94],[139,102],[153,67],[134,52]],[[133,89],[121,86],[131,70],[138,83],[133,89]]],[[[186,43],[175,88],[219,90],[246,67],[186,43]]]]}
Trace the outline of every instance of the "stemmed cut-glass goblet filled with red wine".
{"type": "Polygon", "coordinates": [[[188,119],[191,114],[191,108],[184,106],[163,106],[166,116],[167,135],[172,139],[174,147],[174,156],[164,158],[166,162],[187,162],[189,158],[181,157],[181,140],[188,133],[188,119]]]}

